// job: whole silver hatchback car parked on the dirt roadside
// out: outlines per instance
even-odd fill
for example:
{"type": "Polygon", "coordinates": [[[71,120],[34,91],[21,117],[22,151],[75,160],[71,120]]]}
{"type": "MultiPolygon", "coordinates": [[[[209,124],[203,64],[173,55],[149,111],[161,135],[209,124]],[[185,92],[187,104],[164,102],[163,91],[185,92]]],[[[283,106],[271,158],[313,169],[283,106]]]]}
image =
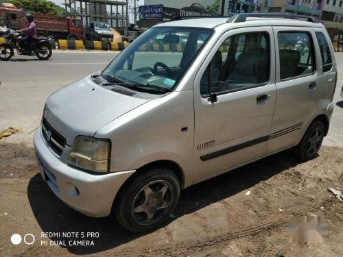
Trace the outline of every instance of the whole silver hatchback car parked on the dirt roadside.
{"type": "Polygon", "coordinates": [[[314,158],[336,79],[330,38],[314,17],[156,25],[104,71],[47,99],[34,136],[40,171],[71,208],[151,230],[182,188],[289,148],[314,158]]]}

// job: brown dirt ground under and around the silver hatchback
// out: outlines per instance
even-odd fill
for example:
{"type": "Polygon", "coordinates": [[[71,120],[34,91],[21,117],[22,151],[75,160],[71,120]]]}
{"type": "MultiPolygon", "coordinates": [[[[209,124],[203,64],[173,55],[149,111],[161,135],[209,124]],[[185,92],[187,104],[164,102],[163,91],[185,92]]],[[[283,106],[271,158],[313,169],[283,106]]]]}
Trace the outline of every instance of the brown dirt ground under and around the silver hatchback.
{"type": "Polygon", "coordinates": [[[322,147],[309,162],[283,151],[185,189],[163,228],[134,234],[114,217],[89,218],[63,204],[40,177],[34,150],[1,142],[0,256],[343,256],[343,203],[330,187],[343,191],[343,148],[322,147]],[[329,228],[324,242],[289,243],[289,218],[319,210],[329,228]],[[99,236],[88,238],[94,245],[73,246],[70,238],[42,232],[99,236]],[[14,233],[36,241],[13,245],[14,233]]]}

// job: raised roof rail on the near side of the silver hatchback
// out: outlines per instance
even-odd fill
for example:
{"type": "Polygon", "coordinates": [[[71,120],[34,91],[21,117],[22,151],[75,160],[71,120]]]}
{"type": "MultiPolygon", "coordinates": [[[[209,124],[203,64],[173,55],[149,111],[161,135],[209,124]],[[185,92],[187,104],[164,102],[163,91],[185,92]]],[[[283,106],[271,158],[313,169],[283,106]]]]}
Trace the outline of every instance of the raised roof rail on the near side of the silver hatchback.
{"type": "Polygon", "coordinates": [[[307,19],[311,23],[319,23],[318,19],[314,16],[305,16],[297,14],[280,14],[280,13],[244,13],[244,14],[235,14],[230,17],[226,22],[227,23],[243,23],[249,17],[261,17],[261,18],[285,18],[285,19],[307,19]]]}

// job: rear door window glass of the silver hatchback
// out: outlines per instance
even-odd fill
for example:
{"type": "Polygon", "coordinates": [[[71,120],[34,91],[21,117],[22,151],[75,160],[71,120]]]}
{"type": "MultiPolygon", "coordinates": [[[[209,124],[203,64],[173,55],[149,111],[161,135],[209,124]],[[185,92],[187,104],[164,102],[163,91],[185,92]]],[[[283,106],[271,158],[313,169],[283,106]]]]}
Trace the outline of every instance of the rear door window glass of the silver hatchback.
{"type": "Polygon", "coordinates": [[[307,32],[279,32],[280,78],[289,79],[316,71],[314,48],[307,32]]]}

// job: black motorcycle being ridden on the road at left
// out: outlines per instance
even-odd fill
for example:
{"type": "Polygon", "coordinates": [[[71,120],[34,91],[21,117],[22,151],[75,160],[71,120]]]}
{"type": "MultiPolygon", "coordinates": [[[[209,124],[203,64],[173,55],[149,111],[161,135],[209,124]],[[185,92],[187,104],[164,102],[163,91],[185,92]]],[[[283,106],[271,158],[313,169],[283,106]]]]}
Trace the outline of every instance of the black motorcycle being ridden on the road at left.
{"type": "Polygon", "coordinates": [[[37,56],[40,60],[49,60],[52,55],[51,38],[38,37],[34,42],[29,43],[29,51],[25,52],[21,39],[25,34],[8,29],[3,38],[5,43],[0,43],[0,60],[8,61],[14,56],[14,49],[21,56],[37,56]]]}

